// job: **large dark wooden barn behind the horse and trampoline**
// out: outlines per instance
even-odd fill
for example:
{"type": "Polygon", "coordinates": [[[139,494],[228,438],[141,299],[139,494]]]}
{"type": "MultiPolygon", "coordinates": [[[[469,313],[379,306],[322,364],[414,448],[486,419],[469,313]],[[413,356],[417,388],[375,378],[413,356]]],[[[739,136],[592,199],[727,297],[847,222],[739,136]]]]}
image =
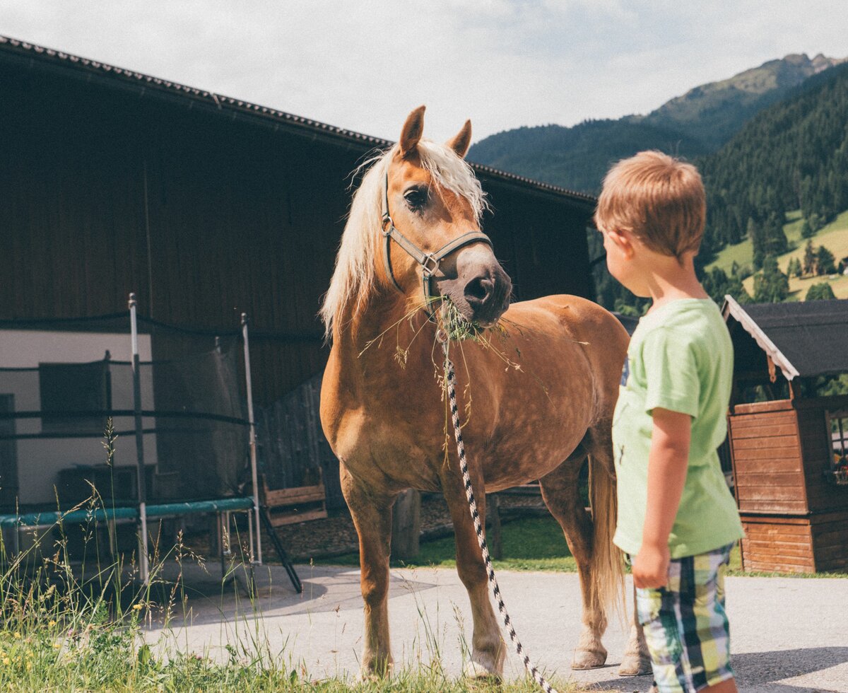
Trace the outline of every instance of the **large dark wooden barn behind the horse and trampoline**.
{"type": "MultiPolygon", "coordinates": [[[[247,313],[256,405],[315,464],[316,313],[351,171],[390,144],[0,36],[0,320],[110,314],[130,292],[170,324],[247,313]]],[[[517,297],[592,298],[594,198],[475,169],[517,297]]]]}

